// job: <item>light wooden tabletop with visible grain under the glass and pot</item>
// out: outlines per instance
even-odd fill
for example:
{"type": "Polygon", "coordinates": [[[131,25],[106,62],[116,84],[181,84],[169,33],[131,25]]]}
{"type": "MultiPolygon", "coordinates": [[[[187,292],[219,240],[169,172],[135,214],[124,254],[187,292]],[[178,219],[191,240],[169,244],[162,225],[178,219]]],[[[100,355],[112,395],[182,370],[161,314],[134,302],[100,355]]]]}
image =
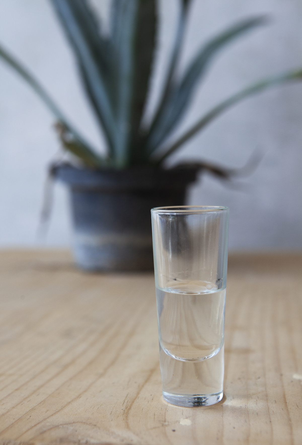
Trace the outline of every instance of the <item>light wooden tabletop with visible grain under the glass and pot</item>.
{"type": "Polygon", "coordinates": [[[0,254],[0,444],[302,444],[302,256],[229,259],[225,396],[161,395],[153,275],[0,254]]]}

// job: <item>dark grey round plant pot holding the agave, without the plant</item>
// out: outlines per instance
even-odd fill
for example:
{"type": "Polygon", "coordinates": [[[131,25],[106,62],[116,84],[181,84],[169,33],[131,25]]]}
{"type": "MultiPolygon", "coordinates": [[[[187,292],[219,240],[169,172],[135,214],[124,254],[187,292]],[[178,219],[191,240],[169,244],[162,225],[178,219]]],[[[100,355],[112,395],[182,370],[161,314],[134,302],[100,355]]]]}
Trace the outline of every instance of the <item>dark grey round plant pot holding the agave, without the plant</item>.
{"type": "Polygon", "coordinates": [[[150,210],[184,205],[187,186],[198,170],[194,166],[170,170],[56,166],[55,177],[71,191],[77,265],[89,271],[152,270],[150,210]]]}

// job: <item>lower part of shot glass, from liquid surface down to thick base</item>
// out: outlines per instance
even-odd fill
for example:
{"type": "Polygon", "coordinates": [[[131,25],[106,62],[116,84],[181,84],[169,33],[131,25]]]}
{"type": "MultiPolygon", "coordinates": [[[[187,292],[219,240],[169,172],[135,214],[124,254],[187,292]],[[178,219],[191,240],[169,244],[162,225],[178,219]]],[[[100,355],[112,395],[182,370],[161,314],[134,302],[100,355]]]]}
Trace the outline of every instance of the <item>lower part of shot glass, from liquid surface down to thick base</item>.
{"type": "Polygon", "coordinates": [[[156,289],[163,396],[212,405],[223,396],[225,289],[201,282],[156,289]]]}

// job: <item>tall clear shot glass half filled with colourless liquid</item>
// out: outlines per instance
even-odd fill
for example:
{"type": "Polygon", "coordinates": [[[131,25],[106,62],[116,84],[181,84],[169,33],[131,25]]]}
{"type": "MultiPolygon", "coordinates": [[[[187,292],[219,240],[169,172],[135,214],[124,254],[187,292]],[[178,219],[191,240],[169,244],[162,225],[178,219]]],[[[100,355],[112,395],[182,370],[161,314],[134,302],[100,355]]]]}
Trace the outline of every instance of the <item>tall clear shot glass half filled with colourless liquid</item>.
{"type": "Polygon", "coordinates": [[[221,401],[229,209],[151,210],[161,380],[178,406],[221,401]]]}

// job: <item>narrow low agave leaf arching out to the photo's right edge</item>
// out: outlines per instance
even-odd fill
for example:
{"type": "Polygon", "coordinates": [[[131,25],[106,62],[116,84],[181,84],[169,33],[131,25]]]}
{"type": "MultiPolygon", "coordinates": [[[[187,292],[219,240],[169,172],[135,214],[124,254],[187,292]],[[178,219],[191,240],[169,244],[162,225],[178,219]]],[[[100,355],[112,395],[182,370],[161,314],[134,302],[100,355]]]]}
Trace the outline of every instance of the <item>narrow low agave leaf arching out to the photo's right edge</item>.
{"type": "Polygon", "coordinates": [[[269,87],[292,81],[302,81],[302,69],[290,71],[289,73],[284,73],[274,77],[269,77],[239,91],[238,93],[216,105],[213,109],[206,113],[204,117],[202,117],[195,125],[193,125],[193,127],[189,129],[181,138],[174,142],[172,146],[164,149],[165,153],[157,157],[155,162],[157,164],[163,162],[165,158],[167,158],[170,154],[177,150],[177,148],[182,146],[185,142],[187,142],[190,138],[197,134],[197,132],[203,129],[205,125],[213,121],[215,117],[219,116],[223,111],[230,108],[232,105],[235,105],[238,102],[242,101],[242,99],[245,99],[246,97],[249,97],[255,93],[260,93],[261,91],[269,87]]]}

